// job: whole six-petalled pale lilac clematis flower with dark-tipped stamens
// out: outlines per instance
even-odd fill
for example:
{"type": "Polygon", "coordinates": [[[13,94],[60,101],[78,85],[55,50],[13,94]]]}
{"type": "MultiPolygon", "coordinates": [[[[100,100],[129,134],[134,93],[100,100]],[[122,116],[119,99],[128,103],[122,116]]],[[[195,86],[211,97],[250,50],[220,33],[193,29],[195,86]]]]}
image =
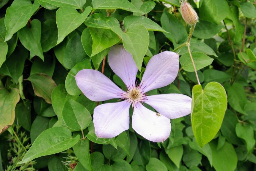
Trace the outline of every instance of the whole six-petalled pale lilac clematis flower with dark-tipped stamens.
{"type": "Polygon", "coordinates": [[[105,103],[94,109],[95,134],[100,138],[112,138],[129,129],[129,108],[132,105],[132,128],[153,142],[166,140],[171,132],[170,119],[191,112],[191,98],[183,94],[147,95],[146,92],[171,84],[179,70],[179,56],[174,52],[161,52],[147,64],[142,81],[136,85],[137,67],[132,55],[122,45],[109,51],[109,65],[119,76],[127,91],[115,85],[96,70],[81,70],[75,79],[84,95],[92,101],[120,98],[123,101],[105,103]],[[143,103],[157,112],[147,109],[143,103]]]}

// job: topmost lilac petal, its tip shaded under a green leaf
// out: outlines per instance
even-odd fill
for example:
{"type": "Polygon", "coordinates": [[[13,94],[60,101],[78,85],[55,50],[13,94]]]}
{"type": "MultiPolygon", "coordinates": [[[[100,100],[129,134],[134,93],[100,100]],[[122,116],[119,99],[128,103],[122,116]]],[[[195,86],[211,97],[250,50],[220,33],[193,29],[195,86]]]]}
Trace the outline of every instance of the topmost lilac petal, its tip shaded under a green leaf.
{"type": "Polygon", "coordinates": [[[111,47],[108,62],[114,73],[123,80],[127,87],[135,84],[138,69],[132,55],[124,49],[123,45],[111,47]]]}

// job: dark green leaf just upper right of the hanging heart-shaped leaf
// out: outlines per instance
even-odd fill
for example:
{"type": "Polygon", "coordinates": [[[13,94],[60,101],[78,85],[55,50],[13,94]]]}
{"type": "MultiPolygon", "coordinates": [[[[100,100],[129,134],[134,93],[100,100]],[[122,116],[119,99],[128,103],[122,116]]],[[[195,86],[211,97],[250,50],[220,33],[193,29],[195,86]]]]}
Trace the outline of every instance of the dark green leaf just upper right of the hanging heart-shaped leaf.
{"type": "Polygon", "coordinates": [[[231,78],[230,75],[228,75],[222,71],[213,70],[213,69],[205,70],[203,72],[203,74],[204,74],[205,82],[223,83],[223,82],[228,81],[231,78]]]}

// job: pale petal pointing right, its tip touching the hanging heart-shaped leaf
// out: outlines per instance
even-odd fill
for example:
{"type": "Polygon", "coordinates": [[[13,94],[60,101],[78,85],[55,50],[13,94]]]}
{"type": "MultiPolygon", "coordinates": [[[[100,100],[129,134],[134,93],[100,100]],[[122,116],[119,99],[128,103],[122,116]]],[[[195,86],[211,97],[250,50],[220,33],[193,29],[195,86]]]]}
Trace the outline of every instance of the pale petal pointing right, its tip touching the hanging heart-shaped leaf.
{"type": "Polygon", "coordinates": [[[145,103],[167,118],[175,119],[191,113],[191,98],[183,94],[158,94],[147,96],[145,103]]]}

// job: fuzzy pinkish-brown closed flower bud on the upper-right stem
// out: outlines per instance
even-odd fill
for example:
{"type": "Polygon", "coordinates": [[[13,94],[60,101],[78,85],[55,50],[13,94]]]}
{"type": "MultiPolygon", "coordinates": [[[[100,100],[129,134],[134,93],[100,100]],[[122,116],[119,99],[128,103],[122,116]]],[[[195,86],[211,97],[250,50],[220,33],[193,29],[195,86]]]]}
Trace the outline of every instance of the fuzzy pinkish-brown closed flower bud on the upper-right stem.
{"type": "Polygon", "coordinates": [[[182,17],[187,24],[194,25],[197,23],[198,15],[193,7],[187,3],[187,0],[184,0],[181,3],[180,10],[182,17]]]}

